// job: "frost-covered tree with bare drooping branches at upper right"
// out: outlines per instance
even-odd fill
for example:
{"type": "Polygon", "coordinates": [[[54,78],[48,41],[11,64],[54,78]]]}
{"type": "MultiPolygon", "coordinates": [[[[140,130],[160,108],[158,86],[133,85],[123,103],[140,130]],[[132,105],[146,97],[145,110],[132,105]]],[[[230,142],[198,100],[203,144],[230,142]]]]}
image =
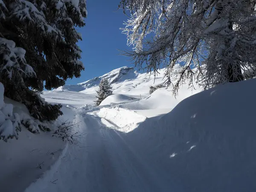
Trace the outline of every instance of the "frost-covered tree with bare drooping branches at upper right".
{"type": "Polygon", "coordinates": [[[241,81],[242,70],[256,67],[255,6],[255,0],[122,0],[119,7],[131,14],[122,31],[134,46],[123,54],[148,72],[164,64],[167,85],[184,61],[174,93],[194,78],[205,88],[241,81]]]}

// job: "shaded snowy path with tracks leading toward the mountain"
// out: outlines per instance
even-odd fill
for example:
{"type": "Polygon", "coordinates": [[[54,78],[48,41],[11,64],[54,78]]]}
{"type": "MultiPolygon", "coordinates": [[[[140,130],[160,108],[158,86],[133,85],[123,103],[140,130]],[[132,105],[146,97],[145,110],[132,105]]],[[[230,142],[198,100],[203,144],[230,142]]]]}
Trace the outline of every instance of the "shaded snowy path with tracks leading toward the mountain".
{"type": "Polygon", "coordinates": [[[51,182],[33,183],[26,192],[157,192],[160,177],[135,155],[120,134],[100,118],[77,115],[80,131],[87,133],[70,145],[51,182]]]}

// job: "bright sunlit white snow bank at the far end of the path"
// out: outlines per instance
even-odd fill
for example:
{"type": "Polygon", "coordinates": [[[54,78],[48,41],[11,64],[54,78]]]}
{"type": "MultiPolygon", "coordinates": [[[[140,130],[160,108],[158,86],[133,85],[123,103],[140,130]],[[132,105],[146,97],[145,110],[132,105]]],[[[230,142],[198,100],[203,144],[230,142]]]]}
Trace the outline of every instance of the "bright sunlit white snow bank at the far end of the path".
{"type": "Polygon", "coordinates": [[[101,108],[97,113],[102,123],[109,128],[128,133],[137,128],[138,124],[145,121],[146,117],[127,109],[101,108]]]}

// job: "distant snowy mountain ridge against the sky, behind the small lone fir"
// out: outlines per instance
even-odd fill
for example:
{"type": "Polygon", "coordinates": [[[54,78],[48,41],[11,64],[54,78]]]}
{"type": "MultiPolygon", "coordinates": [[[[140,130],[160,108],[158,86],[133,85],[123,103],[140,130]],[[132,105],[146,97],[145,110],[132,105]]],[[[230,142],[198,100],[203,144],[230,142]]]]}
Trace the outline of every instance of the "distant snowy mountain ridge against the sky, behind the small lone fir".
{"type": "MultiPolygon", "coordinates": [[[[174,71],[179,69],[180,69],[180,65],[176,65],[174,71]]],[[[88,81],[85,81],[79,84],[64,85],[63,87],[59,87],[56,90],[57,91],[67,90],[67,91],[96,95],[96,90],[99,89],[100,80],[102,78],[106,78],[111,83],[114,94],[128,95],[135,98],[143,98],[145,96],[149,96],[149,93],[148,93],[149,86],[163,83],[165,70],[162,69],[162,70],[159,70],[158,72],[159,73],[157,74],[157,76],[154,77],[153,75],[148,73],[138,73],[136,70],[134,70],[133,67],[121,67],[111,71],[110,73],[106,73],[103,76],[96,77],[94,79],[90,79],[88,81]]],[[[174,78],[173,78],[173,81],[175,81],[174,78]]],[[[183,90],[186,90],[186,92],[189,93],[189,95],[192,95],[202,90],[197,86],[195,88],[196,90],[194,92],[192,92],[191,89],[187,91],[188,86],[185,85],[183,88],[181,88],[180,93],[183,90]]],[[[189,96],[187,95],[187,93],[186,93],[186,96],[189,96]]],[[[183,95],[183,93],[181,93],[180,95],[183,95]]]]}

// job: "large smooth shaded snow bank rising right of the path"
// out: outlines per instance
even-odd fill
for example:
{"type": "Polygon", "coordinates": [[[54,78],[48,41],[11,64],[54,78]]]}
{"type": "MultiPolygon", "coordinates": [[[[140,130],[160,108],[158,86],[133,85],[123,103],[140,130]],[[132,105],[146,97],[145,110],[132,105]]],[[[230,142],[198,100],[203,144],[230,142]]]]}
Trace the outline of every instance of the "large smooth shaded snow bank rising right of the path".
{"type": "Polygon", "coordinates": [[[255,192],[255,86],[251,79],[190,96],[127,139],[164,183],[182,191],[255,192]]]}

